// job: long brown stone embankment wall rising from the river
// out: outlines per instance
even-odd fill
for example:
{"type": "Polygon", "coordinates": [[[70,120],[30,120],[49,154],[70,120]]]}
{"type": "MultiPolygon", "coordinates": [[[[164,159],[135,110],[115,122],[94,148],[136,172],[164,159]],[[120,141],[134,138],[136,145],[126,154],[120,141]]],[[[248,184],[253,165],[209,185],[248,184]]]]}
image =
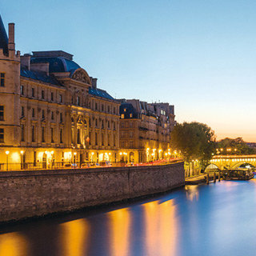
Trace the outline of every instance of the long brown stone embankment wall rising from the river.
{"type": "Polygon", "coordinates": [[[98,206],[185,184],[184,166],[0,173],[0,222],[98,206]]]}

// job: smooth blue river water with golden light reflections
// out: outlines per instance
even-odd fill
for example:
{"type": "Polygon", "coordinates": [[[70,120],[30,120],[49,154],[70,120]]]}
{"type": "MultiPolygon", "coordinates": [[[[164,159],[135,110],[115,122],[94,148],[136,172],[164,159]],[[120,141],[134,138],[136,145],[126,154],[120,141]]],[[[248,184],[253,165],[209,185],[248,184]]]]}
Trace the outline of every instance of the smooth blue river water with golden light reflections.
{"type": "Polygon", "coordinates": [[[6,226],[0,255],[255,255],[255,195],[255,179],[217,182],[122,207],[6,226]]]}

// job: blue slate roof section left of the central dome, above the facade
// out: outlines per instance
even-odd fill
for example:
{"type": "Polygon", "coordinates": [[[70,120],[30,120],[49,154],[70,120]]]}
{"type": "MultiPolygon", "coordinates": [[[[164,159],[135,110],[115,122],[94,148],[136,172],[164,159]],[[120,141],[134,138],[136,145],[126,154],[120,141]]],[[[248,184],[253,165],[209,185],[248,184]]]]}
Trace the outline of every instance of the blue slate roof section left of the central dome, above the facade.
{"type": "Polygon", "coordinates": [[[21,67],[21,76],[24,78],[38,80],[40,82],[50,83],[54,86],[62,86],[62,84],[58,82],[54,76],[48,76],[46,73],[40,71],[28,70],[23,66],[21,67]]]}

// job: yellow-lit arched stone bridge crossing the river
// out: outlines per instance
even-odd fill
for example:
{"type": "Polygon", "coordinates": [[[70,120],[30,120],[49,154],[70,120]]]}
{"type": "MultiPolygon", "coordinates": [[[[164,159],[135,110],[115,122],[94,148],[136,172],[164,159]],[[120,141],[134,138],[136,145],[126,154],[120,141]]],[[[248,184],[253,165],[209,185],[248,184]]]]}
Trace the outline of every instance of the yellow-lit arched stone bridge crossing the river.
{"type": "Polygon", "coordinates": [[[256,168],[256,154],[248,155],[216,155],[210,160],[206,169],[235,169],[240,166],[254,166],[256,168]]]}

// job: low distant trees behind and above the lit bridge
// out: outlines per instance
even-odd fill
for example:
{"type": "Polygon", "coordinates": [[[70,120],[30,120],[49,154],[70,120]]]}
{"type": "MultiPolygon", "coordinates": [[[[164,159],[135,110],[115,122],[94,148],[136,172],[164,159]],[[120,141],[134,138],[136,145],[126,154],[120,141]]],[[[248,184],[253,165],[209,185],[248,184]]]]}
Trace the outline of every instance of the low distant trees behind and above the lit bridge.
{"type": "Polygon", "coordinates": [[[255,154],[242,138],[223,138],[217,143],[218,154],[255,154]]]}

